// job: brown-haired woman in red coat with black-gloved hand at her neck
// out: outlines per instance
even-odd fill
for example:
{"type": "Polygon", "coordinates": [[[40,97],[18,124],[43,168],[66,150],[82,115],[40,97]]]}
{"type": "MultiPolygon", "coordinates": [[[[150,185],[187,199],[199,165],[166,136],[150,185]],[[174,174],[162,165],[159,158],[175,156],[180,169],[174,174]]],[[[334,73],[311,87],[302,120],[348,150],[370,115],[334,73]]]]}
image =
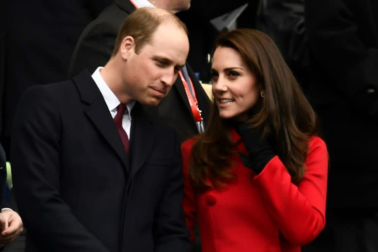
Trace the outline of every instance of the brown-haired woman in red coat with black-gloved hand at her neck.
{"type": "Polygon", "coordinates": [[[299,252],[325,224],[328,154],[274,42],[219,35],[205,132],[182,144],[183,207],[202,252],[299,252]]]}

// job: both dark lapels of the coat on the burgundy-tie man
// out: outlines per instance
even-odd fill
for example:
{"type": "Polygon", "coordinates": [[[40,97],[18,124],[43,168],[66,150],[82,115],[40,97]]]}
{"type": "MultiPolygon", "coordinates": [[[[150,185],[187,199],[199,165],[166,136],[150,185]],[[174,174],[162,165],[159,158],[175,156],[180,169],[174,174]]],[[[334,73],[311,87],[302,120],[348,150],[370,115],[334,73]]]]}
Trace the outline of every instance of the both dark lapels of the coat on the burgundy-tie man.
{"type": "Polygon", "coordinates": [[[81,100],[88,104],[86,115],[116,152],[132,178],[148,158],[154,144],[154,135],[158,134],[154,132],[153,120],[141,104],[136,102],[131,112],[130,155],[126,155],[117,127],[91,74],[85,70],[73,77],[73,81],[81,100]]]}

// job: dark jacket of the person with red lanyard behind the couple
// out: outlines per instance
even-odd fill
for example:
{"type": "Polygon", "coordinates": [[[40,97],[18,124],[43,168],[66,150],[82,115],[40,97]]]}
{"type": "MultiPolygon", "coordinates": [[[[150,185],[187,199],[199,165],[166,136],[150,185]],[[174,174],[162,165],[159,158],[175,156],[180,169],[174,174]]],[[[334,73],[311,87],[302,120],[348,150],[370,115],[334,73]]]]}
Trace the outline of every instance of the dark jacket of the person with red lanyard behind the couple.
{"type": "MultiPolygon", "coordinates": [[[[104,66],[113,52],[118,30],[134,10],[134,5],[128,0],[116,0],[91,22],[76,44],[68,75],[73,76],[83,69],[94,72],[98,66],[104,66]]],[[[187,67],[206,125],[210,113],[210,99],[188,64],[187,67]]],[[[171,91],[157,108],[146,108],[146,110],[151,115],[157,113],[167,125],[174,127],[181,142],[198,133],[180,78],[177,78],[171,91]]]]}

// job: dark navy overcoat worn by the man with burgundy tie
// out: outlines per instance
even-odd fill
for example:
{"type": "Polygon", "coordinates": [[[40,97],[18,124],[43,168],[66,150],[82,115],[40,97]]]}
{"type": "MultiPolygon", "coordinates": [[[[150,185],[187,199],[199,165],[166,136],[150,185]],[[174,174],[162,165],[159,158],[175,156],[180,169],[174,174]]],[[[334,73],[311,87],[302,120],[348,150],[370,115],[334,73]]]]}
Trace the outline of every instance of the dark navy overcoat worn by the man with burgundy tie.
{"type": "Polygon", "coordinates": [[[180,142],[139,103],[130,155],[88,71],[25,92],[12,132],[26,251],[188,251],[180,142]]]}

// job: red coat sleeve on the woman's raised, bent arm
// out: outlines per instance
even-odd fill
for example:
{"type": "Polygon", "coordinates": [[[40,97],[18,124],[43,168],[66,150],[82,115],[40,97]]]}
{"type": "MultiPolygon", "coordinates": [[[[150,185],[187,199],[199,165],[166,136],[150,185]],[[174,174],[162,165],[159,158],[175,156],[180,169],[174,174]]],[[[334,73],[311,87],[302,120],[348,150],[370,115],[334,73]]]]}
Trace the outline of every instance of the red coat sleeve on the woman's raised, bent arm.
{"type": "Polygon", "coordinates": [[[312,242],[325,225],[328,152],[325,143],[313,137],[303,179],[294,185],[278,156],[272,158],[254,180],[266,209],[285,239],[293,245],[312,242]]]}

